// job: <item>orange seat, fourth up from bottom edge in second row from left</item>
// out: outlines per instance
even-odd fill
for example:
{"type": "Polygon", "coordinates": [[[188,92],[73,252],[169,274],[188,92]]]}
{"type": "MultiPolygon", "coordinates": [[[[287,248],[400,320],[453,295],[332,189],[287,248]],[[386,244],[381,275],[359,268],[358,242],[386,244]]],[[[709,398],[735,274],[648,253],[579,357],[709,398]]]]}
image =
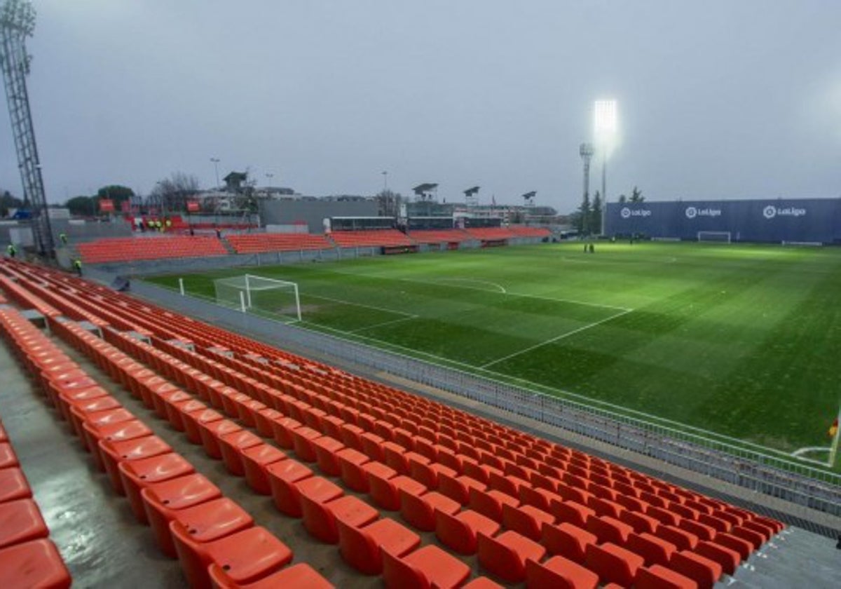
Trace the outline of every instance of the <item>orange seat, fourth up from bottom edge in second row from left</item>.
{"type": "Polygon", "coordinates": [[[169,523],[177,512],[214,501],[220,496],[222,492],[219,487],[204,475],[198,474],[165,480],[140,491],[146,518],[161,551],[173,559],[177,557],[175,544],[172,544],[172,533],[169,531],[169,523]]]}

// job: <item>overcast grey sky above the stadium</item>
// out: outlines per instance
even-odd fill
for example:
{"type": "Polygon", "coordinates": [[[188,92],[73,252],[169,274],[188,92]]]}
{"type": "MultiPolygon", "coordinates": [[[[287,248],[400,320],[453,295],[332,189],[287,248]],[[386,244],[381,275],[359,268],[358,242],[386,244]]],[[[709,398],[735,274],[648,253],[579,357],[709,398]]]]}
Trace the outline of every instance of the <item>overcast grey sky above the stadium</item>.
{"type": "MultiPolygon", "coordinates": [[[[616,98],[608,198],[841,196],[838,0],[34,0],[50,202],[250,168],[303,194],[579,204],[616,98]]],[[[0,186],[20,194],[8,114],[0,186]]],[[[593,170],[598,183],[599,167],[593,170]]],[[[595,189],[595,188],[594,188],[595,189]]]]}

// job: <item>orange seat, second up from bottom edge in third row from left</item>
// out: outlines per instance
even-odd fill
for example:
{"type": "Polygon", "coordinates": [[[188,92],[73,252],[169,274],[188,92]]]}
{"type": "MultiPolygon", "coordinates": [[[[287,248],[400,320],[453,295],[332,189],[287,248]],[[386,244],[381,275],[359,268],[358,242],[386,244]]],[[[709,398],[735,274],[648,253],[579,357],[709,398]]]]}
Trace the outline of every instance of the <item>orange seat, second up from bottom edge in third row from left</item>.
{"type": "Polygon", "coordinates": [[[470,567],[434,544],[403,557],[383,549],[383,581],[389,589],[457,587],[470,576],[470,567]]]}

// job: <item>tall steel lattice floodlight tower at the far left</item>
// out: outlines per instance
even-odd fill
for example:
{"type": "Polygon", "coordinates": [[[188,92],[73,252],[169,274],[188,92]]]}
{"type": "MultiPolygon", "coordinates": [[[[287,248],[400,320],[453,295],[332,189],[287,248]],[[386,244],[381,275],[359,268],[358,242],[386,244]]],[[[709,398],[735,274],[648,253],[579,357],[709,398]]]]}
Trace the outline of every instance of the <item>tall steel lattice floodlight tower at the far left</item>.
{"type": "Polygon", "coordinates": [[[0,66],[6,88],[8,114],[12,119],[14,147],[18,152],[20,179],[24,184],[24,202],[32,210],[32,236],[35,247],[42,256],[53,257],[53,238],[50,215],[44,194],[44,179],[32,112],[29,110],[29,93],[26,77],[29,75],[31,56],[26,52],[26,38],[35,29],[35,9],[28,0],[6,0],[0,7],[0,66]]]}

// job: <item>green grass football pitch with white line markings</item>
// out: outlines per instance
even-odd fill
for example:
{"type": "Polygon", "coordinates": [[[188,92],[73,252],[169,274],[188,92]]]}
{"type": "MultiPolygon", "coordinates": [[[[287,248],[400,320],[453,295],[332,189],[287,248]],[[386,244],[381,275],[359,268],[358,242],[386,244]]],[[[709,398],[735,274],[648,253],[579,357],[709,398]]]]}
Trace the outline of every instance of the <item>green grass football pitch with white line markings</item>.
{"type": "MultiPolygon", "coordinates": [[[[791,451],[841,396],[841,250],[598,243],[249,268],[304,326],[791,451]]],[[[184,275],[190,293],[236,268],[184,275]]],[[[175,287],[177,276],[154,281],[175,287]]],[[[547,390],[547,389],[542,389],[547,390]]]]}

